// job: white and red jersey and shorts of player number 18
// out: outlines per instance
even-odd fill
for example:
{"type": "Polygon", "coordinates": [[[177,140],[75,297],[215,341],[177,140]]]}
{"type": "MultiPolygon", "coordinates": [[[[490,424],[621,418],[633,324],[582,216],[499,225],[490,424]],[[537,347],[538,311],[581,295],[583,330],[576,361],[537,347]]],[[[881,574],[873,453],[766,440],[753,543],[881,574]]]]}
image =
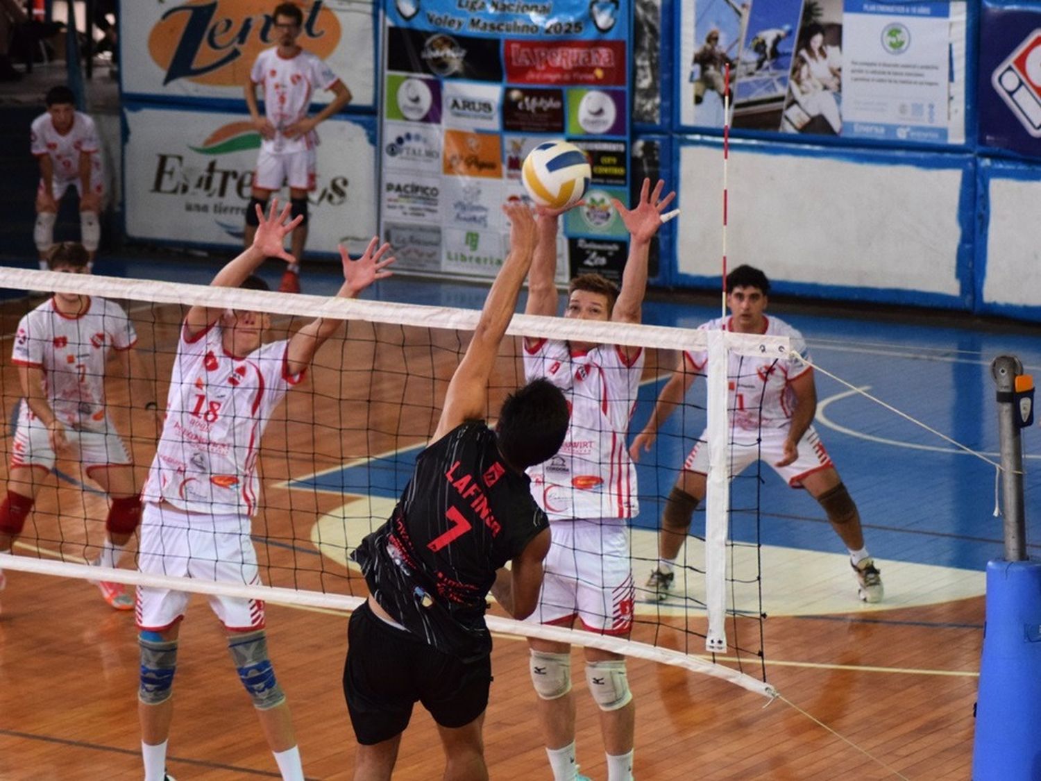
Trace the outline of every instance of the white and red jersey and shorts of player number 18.
{"type": "MultiPolygon", "coordinates": [[[[224,349],[214,323],[181,332],[167,397],[167,421],[142,492],[142,572],[259,583],[250,519],[257,509],[260,437],[275,407],[303,373],[289,375],[285,341],[246,357],[224,349]]],[[[230,629],[263,626],[263,603],[211,597],[230,629]]],[[[187,595],[138,587],[137,625],[178,621],[187,595]]]]}

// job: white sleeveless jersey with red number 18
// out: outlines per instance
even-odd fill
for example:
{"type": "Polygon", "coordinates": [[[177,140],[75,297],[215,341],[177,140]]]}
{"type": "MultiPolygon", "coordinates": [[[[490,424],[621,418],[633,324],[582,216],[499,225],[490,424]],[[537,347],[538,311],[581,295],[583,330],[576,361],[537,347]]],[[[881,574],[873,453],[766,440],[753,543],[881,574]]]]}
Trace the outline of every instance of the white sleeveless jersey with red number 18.
{"type": "Polygon", "coordinates": [[[288,374],[287,345],[274,342],[239,358],[225,351],[219,324],[191,341],[182,327],[144,501],[207,515],[256,511],[260,437],[303,378],[288,374]]]}

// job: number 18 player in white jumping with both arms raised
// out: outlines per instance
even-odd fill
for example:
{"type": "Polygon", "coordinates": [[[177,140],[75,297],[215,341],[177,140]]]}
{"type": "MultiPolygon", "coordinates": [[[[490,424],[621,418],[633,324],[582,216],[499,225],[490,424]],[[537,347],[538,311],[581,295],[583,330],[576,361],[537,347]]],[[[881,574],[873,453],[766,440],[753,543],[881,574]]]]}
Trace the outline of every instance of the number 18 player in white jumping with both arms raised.
{"type": "MultiPolygon", "coordinates": [[[[225,266],[211,282],[220,287],[263,289],[251,276],[265,257],[293,256],[285,235],[300,223],[289,207],[257,215],[253,244],[225,266]]],[[[373,238],[360,259],[340,248],[340,298],[355,298],[385,271],[389,245],[373,238]]],[[[257,584],[260,575],[250,541],[256,512],[258,446],[272,412],[286,392],[303,379],[319,347],[338,328],[319,318],[288,339],[263,344],[266,314],[242,309],[193,306],[181,327],[174,360],[167,420],[148,481],[142,493],[138,565],[152,575],[173,575],[257,584]]],[[[139,586],[142,729],[145,780],[161,781],[173,716],[172,684],[177,667],[177,635],[187,606],[183,591],[139,586]]],[[[302,781],[300,752],[264,637],[262,602],[212,596],[210,608],[224,624],[228,649],[243,685],[253,700],[268,745],[282,778],[302,781]]]]}

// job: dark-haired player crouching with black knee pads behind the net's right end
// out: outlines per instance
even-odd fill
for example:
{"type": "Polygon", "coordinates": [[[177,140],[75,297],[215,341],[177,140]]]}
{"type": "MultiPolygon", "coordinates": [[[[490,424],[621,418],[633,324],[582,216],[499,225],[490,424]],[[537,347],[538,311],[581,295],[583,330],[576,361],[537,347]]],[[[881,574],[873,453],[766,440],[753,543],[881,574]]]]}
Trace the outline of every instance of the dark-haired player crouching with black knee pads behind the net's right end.
{"type": "MultiPolygon", "coordinates": [[[[737,333],[788,336],[792,349],[808,357],[802,333],[779,318],[766,317],[770,283],[763,272],[739,266],[727,275],[727,291],[730,317],[705,323],[703,329],[727,328],[737,333]]],[[[708,355],[704,352],[684,352],[680,356],[675,373],[658,396],[651,420],[633,440],[630,454],[634,460],[641,451],[651,449],[658,429],[683,403],[696,373],[703,372],[707,362],[708,355]]],[[[849,549],[858,596],[865,602],[881,602],[882,577],[864,545],[857,505],[811,425],[817,410],[812,368],[796,358],[775,360],[731,355],[728,374],[730,431],[736,446],[731,448],[730,455],[732,476],[762,458],[791,487],[806,488],[820,503],[832,527],[849,549]]],[[[660,559],[648,580],[648,586],[659,600],[668,597],[676,559],[690,528],[690,519],[705,498],[709,465],[705,437],[703,433],[687,456],[662,512],[658,537],[660,559]]]]}

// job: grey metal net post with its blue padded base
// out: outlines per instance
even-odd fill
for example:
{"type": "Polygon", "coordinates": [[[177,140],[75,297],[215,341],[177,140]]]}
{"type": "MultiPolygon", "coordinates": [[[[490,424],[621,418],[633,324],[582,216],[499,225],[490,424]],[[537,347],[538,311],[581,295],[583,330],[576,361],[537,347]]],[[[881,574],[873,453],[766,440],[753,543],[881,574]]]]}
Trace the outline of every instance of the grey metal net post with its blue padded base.
{"type": "Polygon", "coordinates": [[[1000,355],[997,385],[1005,557],[987,562],[986,625],[972,746],[974,781],[1034,778],[1041,755],[1041,562],[1026,558],[1022,442],[1033,422],[1033,380],[1000,355]]]}

